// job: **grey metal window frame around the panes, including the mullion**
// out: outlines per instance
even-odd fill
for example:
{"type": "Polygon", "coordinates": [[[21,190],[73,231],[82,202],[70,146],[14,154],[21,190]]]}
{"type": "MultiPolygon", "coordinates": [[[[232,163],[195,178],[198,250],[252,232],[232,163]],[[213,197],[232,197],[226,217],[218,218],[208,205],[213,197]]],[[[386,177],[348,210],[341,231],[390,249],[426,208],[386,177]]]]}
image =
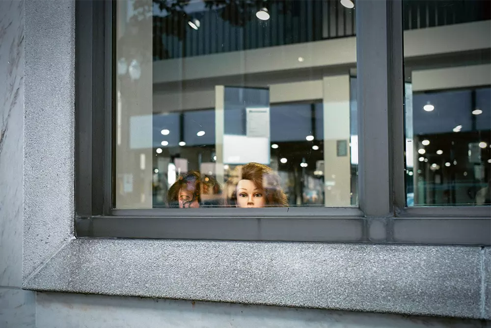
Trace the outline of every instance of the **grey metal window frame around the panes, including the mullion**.
{"type": "Polygon", "coordinates": [[[489,208],[406,207],[402,0],[357,2],[359,208],[112,210],[114,7],[76,6],[78,238],[491,245],[489,208]]]}

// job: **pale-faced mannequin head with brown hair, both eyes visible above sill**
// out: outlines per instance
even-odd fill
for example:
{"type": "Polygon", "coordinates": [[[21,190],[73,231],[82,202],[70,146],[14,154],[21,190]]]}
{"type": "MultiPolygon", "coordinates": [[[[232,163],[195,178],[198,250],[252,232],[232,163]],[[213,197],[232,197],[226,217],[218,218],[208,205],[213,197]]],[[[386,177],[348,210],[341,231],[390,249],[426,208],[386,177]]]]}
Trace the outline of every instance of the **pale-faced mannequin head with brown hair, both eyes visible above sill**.
{"type": "Polygon", "coordinates": [[[226,182],[227,203],[237,207],[286,206],[280,177],[269,166],[247,163],[237,166],[226,182]]]}

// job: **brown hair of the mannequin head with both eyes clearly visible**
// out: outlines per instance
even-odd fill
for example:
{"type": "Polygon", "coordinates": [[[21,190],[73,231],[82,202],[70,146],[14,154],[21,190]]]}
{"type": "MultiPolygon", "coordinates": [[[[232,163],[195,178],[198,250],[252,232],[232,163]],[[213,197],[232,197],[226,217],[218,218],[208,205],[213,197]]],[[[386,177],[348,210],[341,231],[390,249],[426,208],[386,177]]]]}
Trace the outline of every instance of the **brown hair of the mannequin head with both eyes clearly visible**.
{"type": "Polygon", "coordinates": [[[240,180],[250,180],[256,188],[262,188],[267,207],[288,205],[286,195],[281,189],[281,179],[278,174],[269,166],[254,162],[237,166],[227,180],[225,197],[228,205],[237,204],[237,184],[240,180]]]}

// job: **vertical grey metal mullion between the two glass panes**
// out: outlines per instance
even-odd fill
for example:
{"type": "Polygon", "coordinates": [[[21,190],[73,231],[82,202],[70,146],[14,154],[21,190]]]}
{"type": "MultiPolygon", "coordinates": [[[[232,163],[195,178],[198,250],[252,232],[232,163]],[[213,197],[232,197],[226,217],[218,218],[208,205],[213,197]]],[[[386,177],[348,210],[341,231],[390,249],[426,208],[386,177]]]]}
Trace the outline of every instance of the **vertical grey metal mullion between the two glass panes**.
{"type": "Polygon", "coordinates": [[[399,148],[403,154],[404,149],[403,143],[399,144],[402,127],[391,126],[393,120],[402,122],[402,112],[392,115],[392,111],[402,108],[401,23],[392,25],[397,22],[392,17],[401,10],[400,2],[356,2],[358,188],[360,209],[367,217],[392,216],[394,187],[400,188],[404,183],[392,183],[393,172],[403,168],[394,170],[392,150],[399,148]],[[392,130],[397,133],[392,134],[392,130]]]}

